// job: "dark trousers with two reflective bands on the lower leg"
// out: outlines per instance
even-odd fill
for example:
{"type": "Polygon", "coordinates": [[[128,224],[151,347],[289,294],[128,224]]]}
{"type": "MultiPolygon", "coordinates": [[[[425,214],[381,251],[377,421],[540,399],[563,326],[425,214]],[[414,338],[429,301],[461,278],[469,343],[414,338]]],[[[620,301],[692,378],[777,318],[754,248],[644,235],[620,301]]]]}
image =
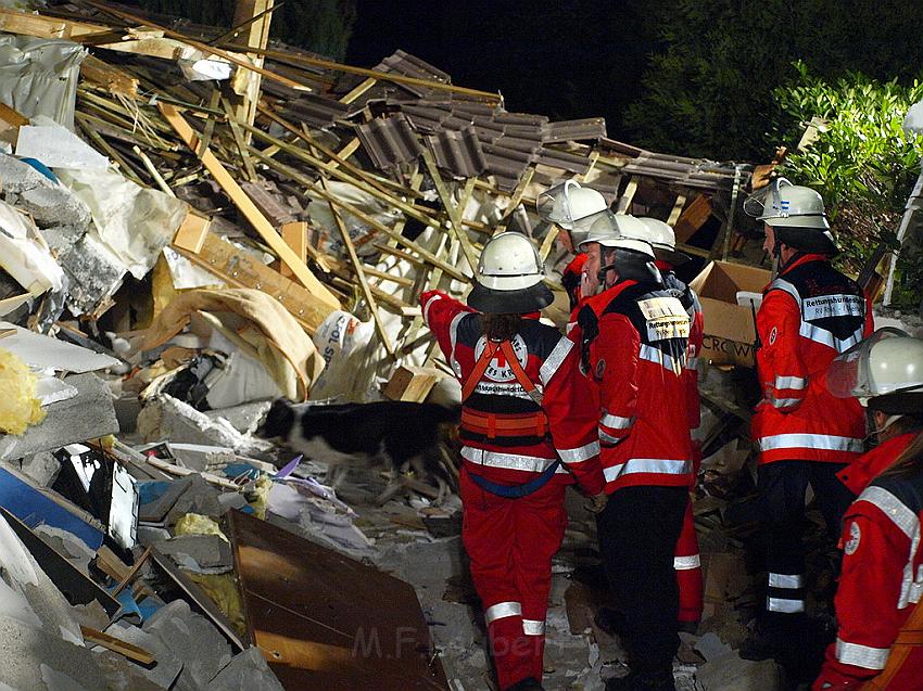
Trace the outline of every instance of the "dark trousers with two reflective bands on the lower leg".
{"type": "Polygon", "coordinates": [[[836,473],[846,465],[820,461],[774,461],[759,466],[766,568],[769,572],[766,625],[784,628],[805,613],[805,492],[814,490],[831,536],[855,499],[836,473]],[[792,616],[796,615],[796,616],[792,616]]]}

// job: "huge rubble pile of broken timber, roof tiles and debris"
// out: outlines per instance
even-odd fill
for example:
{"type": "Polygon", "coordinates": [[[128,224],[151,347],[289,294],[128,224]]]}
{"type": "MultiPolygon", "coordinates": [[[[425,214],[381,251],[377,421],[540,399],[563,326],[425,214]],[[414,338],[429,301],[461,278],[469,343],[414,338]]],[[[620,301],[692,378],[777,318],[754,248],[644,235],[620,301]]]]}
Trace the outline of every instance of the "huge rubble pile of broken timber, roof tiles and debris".
{"type": "MultiPolygon", "coordinates": [[[[378,469],[334,490],[323,456],[261,438],[270,401],[457,406],[417,298],[464,295],[485,240],[516,228],[566,321],[542,191],[577,177],[669,220],[697,272],[745,249],[751,169],[508,112],[403,51],[365,69],[269,46],[266,13],[230,36],[135,12],[0,9],[0,686],[491,688],[457,497],[378,469]]],[[[746,341],[711,334],[724,369],[703,379],[688,689],[779,683],[731,648],[755,599],[728,520],[753,489],[728,381],[746,341]]],[[[443,446],[457,474],[448,430],[443,446]]],[[[581,576],[594,523],[570,509],[547,678],[600,689],[623,654],[581,576]]]]}

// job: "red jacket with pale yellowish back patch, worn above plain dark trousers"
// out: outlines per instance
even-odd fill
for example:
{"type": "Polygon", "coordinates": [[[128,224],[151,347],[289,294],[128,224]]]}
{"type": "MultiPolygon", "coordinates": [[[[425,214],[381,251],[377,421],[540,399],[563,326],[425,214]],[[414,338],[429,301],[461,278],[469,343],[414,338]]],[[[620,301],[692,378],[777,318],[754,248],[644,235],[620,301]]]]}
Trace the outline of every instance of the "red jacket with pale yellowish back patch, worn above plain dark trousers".
{"type": "Polygon", "coordinates": [[[688,323],[680,302],[660,286],[623,281],[587,299],[570,330],[596,384],[608,492],[693,482],[688,323]]]}

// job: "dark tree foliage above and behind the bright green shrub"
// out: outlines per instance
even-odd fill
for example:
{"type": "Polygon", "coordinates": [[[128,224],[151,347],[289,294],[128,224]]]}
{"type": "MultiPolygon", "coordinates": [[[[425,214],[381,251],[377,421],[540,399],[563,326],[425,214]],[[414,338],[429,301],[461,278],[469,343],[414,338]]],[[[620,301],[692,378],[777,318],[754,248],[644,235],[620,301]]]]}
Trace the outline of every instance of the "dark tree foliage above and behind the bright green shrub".
{"type": "Polygon", "coordinates": [[[638,143],[760,161],[773,89],[801,60],[821,77],[909,79],[923,64],[916,0],[677,0],[655,3],[660,44],[625,123],[638,143]]]}

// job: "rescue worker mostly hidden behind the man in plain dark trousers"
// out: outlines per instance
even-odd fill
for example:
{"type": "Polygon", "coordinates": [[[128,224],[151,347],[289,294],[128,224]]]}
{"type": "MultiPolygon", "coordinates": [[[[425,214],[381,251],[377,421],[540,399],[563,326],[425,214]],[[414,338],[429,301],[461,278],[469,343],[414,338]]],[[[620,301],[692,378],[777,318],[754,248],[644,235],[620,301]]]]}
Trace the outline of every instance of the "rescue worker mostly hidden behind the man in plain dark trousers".
{"type": "MultiPolygon", "coordinates": [[[[690,256],[677,252],[677,238],[668,223],[656,218],[641,219],[647,228],[647,239],[654,246],[655,265],[663,277],[667,292],[682,303],[690,317],[690,348],[686,355],[686,412],[692,435],[693,473],[698,477],[701,466],[701,445],[695,434],[701,424],[701,408],[698,397],[698,357],[705,342],[705,316],[698,295],[683,283],[674,272],[674,268],[690,260],[690,256]]],[[[701,556],[698,552],[698,538],[695,534],[695,520],[692,512],[692,501],[686,507],[683,519],[683,532],[677,542],[677,553],[673,556],[673,568],[677,571],[677,584],[680,588],[680,628],[695,632],[701,620],[705,607],[705,588],[701,577],[701,556]]]]}

